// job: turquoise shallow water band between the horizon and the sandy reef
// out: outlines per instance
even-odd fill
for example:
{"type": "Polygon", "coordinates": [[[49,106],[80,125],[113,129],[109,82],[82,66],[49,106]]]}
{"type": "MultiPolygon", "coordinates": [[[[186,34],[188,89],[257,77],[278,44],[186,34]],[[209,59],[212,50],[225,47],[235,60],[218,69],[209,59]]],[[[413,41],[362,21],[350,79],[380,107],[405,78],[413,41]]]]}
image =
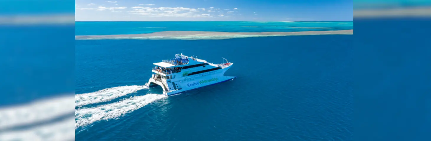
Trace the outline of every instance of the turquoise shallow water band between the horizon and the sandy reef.
{"type": "Polygon", "coordinates": [[[352,21],[77,21],[75,35],[141,34],[160,31],[295,32],[351,30],[352,21]]]}

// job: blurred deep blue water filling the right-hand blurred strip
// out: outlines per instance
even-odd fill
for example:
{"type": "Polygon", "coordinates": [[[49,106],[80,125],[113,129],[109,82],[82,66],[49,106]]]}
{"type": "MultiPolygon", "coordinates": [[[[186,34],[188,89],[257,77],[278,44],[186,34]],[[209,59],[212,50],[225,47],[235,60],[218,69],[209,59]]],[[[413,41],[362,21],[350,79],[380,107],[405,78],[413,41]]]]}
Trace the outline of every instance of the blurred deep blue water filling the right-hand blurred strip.
{"type": "Polygon", "coordinates": [[[430,141],[429,18],[355,18],[355,141],[430,141]]]}

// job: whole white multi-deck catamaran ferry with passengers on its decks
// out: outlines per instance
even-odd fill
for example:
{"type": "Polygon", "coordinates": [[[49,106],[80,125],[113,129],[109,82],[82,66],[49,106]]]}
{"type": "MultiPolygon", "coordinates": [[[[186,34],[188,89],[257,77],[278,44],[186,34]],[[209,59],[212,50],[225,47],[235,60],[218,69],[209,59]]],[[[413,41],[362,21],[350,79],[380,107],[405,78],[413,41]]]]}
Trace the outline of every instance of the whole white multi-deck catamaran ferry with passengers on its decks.
{"type": "Polygon", "coordinates": [[[146,85],[148,87],[161,86],[163,94],[166,96],[235,78],[234,76],[224,76],[225,72],[234,64],[228,60],[226,63],[213,64],[195,57],[175,54],[174,59],[162,60],[162,62],[153,64],[156,66],[146,85]]]}

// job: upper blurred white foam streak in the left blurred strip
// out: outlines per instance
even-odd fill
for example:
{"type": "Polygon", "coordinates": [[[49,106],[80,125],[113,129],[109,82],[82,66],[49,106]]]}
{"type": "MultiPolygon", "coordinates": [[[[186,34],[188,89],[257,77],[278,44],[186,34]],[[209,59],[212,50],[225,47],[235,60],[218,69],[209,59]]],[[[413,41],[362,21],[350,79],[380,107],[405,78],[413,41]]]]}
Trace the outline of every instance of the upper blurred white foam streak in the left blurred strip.
{"type": "Polygon", "coordinates": [[[75,110],[72,94],[41,99],[25,105],[0,108],[0,130],[52,120],[72,114],[75,110]]]}

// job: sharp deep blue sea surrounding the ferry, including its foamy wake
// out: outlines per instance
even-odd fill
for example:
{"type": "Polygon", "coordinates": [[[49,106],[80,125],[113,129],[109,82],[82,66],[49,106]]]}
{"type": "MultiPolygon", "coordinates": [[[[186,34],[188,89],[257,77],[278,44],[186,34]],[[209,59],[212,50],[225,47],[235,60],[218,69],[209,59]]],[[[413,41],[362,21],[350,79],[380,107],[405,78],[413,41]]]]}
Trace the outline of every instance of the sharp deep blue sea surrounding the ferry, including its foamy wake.
{"type": "MultiPolygon", "coordinates": [[[[77,35],[110,32],[134,31],[77,35]]],[[[352,35],[76,40],[75,138],[351,141],[352,54],[352,35]],[[224,57],[234,63],[225,75],[237,78],[168,97],[143,86],[152,63],[178,53],[224,57]]]]}

